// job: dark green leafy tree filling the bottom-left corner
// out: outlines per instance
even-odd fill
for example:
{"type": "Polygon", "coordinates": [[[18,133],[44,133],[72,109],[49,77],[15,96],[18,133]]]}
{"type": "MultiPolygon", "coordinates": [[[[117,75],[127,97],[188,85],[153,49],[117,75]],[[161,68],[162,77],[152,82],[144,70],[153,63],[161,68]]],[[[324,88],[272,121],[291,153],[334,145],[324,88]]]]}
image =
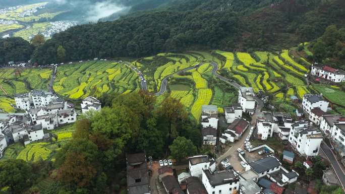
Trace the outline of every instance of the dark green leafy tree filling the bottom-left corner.
{"type": "Polygon", "coordinates": [[[0,162],[0,187],[8,186],[13,194],[29,188],[32,168],[24,160],[5,160],[0,162]]]}

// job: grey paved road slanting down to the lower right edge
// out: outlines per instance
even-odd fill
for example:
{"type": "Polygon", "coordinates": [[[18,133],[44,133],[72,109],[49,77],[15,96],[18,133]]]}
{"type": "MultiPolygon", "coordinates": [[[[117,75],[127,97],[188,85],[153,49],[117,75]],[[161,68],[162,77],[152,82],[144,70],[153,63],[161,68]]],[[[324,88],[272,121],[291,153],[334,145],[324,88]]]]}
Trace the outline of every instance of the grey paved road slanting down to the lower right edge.
{"type": "Polygon", "coordinates": [[[330,163],[331,163],[331,165],[335,171],[336,176],[340,180],[342,188],[345,190],[345,187],[344,187],[345,186],[345,173],[340,167],[341,164],[339,164],[339,162],[336,160],[334,153],[325,143],[321,144],[320,147],[321,147],[322,152],[326,155],[326,157],[330,161],[330,163]]]}

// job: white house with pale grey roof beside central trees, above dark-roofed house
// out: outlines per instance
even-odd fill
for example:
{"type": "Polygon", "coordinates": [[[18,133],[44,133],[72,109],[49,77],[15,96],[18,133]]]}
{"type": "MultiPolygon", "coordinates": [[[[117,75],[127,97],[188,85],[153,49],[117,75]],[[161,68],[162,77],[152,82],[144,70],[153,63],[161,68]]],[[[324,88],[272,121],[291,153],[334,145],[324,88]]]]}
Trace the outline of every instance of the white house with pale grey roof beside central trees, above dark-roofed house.
{"type": "Polygon", "coordinates": [[[218,128],[218,108],[215,105],[202,105],[201,108],[201,125],[206,128],[211,126],[218,128]]]}

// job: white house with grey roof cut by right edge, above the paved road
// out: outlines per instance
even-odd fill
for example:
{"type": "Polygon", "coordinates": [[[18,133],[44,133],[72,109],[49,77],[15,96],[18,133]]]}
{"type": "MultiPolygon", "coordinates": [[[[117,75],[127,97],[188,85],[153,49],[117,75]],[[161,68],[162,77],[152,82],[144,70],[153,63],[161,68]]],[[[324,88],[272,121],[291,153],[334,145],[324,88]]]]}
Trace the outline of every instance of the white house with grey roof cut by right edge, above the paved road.
{"type": "Polygon", "coordinates": [[[345,117],[341,114],[324,114],[320,118],[320,130],[326,137],[330,137],[334,123],[342,122],[345,122],[345,117]]]}

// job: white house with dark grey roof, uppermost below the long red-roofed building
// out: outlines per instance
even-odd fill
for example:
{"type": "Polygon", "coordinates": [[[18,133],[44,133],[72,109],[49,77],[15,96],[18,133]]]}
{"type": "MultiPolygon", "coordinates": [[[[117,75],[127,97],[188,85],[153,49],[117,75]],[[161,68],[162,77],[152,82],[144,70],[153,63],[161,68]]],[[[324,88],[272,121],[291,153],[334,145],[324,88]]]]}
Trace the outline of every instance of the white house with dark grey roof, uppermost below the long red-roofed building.
{"type": "Polygon", "coordinates": [[[308,114],[311,113],[313,108],[320,108],[322,111],[327,112],[329,102],[323,99],[322,94],[305,94],[303,95],[303,110],[308,114]]]}

